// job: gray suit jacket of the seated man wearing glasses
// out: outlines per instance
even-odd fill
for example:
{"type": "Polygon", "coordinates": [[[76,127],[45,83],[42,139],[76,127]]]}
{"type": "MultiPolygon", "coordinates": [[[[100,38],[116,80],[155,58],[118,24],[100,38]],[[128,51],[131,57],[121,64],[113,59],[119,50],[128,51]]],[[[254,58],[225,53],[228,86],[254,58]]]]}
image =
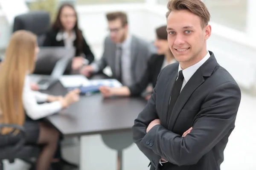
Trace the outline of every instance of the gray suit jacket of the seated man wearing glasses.
{"type": "MultiPolygon", "coordinates": [[[[111,41],[110,37],[105,39],[105,47],[102,58],[95,62],[99,67],[99,71],[102,71],[106,66],[110,66],[113,73],[113,78],[116,77],[116,45],[111,41]]],[[[137,82],[142,77],[145,69],[147,68],[147,62],[151,52],[149,50],[149,44],[144,40],[132,36],[131,40],[131,77],[134,82],[137,82]]]]}

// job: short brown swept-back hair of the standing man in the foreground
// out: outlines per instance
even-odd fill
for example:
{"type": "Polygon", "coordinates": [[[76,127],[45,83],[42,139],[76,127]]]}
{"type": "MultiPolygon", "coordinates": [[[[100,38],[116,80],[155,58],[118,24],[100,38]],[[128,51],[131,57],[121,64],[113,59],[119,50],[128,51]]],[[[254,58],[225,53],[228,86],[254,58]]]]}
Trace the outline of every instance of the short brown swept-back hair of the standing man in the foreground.
{"type": "Polygon", "coordinates": [[[172,11],[189,10],[201,18],[201,26],[207,26],[210,21],[210,13],[201,0],[169,0],[166,18],[172,11]]]}

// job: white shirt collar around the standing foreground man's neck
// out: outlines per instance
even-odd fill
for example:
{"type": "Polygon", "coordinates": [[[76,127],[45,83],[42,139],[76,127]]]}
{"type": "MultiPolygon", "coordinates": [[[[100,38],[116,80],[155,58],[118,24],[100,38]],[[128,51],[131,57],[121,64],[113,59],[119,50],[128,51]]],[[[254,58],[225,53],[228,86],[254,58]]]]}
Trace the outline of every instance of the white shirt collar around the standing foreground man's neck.
{"type": "MultiPolygon", "coordinates": [[[[210,58],[210,54],[209,54],[209,51],[207,51],[206,56],[203,59],[201,59],[201,61],[199,61],[198,63],[184,69],[182,71],[182,73],[183,73],[185,81],[188,82],[189,79],[193,76],[193,74],[198,70],[198,68],[201,67],[201,65],[203,65],[204,62],[206,62],[207,59],[209,59],[209,58],[210,58]]],[[[179,73],[180,70],[182,70],[182,68],[179,65],[178,73],[179,73]]]]}

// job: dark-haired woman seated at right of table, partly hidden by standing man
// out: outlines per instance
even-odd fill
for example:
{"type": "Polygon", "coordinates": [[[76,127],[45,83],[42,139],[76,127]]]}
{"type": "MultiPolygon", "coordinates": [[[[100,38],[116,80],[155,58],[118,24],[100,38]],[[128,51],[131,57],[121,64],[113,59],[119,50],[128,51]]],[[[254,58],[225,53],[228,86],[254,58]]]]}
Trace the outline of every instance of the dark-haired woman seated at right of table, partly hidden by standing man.
{"type": "MultiPolygon", "coordinates": [[[[161,26],[156,29],[157,38],[154,45],[157,48],[157,54],[153,54],[148,61],[147,70],[143,74],[139,82],[131,86],[123,86],[121,88],[112,88],[107,86],[100,87],[100,91],[104,97],[110,96],[139,96],[149,83],[152,83],[153,88],[157,83],[157,77],[161,69],[166,65],[172,64],[175,61],[174,56],[169,48],[167,41],[167,26],[161,26]]],[[[144,95],[145,99],[149,99],[152,91],[148,91],[144,95]]]]}

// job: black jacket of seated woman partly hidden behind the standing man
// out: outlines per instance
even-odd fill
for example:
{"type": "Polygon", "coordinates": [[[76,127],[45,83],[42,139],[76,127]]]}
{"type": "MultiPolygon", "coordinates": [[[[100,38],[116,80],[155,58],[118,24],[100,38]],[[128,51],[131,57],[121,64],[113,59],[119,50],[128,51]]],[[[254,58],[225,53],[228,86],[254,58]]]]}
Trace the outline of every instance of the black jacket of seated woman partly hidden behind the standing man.
{"type": "Polygon", "coordinates": [[[156,86],[157,77],[161,71],[163,61],[164,55],[153,54],[150,57],[148,60],[147,69],[144,71],[140,81],[128,87],[131,92],[131,96],[140,95],[149,83],[152,83],[153,88],[156,86]]]}

